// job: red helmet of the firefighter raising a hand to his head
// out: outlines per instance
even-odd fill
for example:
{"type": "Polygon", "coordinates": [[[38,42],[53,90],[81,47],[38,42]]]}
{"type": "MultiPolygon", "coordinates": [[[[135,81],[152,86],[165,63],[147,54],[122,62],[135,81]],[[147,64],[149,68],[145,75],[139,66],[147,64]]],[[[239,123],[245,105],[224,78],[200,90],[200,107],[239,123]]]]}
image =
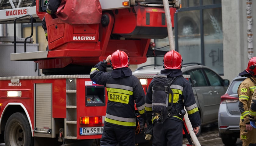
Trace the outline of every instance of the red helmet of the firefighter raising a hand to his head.
{"type": "Polygon", "coordinates": [[[125,68],[129,66],[129,58],[124,51],[116,50],[111,55],[110,63],[113,69],[125,68]]]}

